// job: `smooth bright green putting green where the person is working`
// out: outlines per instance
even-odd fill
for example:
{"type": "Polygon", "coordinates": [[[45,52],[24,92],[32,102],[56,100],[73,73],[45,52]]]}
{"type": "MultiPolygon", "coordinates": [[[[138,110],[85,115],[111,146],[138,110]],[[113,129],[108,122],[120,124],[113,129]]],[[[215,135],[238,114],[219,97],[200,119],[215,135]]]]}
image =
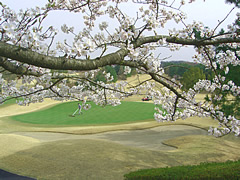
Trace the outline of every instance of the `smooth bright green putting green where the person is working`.
{"type": "Polygon", "coordinates": [[[24,123],[46,125],[96,125],[126,123],[153,119],[152,103],[122,102],[121,105],[100,107],[91,103],[92,108],[83,114],[71,117],[77,109],[77,102],[58,104],[46,110],[13,116],[12,119],[24,123]]]}

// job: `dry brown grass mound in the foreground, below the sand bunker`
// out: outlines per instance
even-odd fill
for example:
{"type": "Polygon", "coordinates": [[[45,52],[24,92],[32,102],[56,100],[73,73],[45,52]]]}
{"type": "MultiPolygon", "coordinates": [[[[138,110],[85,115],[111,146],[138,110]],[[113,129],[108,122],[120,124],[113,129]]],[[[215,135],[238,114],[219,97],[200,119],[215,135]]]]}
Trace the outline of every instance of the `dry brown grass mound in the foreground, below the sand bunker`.
{"type": "Polygon", "coordinates": [[[168,140],[171,151],[133,148],[104,140],[64,140],[43,143],[1,158],[0,167],[38,179],[120,180],[125,173],[240,157],[239,144],[211,136],[183,136],[168,140]]]}

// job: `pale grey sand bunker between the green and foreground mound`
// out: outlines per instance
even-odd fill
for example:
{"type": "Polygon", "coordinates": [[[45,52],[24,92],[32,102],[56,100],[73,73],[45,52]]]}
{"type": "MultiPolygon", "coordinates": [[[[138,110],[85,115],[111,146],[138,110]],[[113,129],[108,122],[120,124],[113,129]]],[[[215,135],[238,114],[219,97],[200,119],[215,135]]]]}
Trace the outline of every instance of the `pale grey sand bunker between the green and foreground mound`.
{"type": "Polygon", "coordinates": [[[168,139],[187,135],[206,135],[207,132],[191,126],[159,126],[145,130],[113,131],[92,135],[72,135],[50,132],[18,132],[17,135],[37,139],[41,142],[51,142],[70,139],[103,139],[122,145],[139,147],[149,150],[172,150],[171,146],[162,142],[168,139]]]}

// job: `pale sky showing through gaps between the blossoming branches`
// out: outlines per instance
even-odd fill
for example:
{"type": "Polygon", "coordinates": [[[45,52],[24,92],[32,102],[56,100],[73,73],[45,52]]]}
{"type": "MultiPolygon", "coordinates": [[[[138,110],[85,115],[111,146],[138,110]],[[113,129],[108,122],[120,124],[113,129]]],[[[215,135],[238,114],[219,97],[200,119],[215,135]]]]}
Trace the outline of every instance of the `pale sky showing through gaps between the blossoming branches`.
{"type": "MultiPolygon", "coordinates": [[[[47,2],[47,0],[1,0],[1,2],[8,5],[15,11],[18,11],[21,8],[31,8],[36,5],[41,7],[47,2]]],[[[205,26],[208,26],[210,28],[215,28],[218,23],[222,21],[234,7],[234,5],[226,4],[225,0],[196,0],[194,3],[188,3],[189,0],[186,0],[186,2],[186,5],[181,8],[182,11],[187,13],[188,19],[185,20],[185,23],[192,23],[194,20],[201,21],[205,26]]],[[[130,13],[133,16],[136,15],[135,4],[128,2],[123,4],[122,7],[126,13],[130,13]]],[[[235,8],[235,10],[229,15],[226,21],[221,24],[218,30],[220,30],[220,28],[226,28],[228,24],[231,24],[234,21],[237,12],[240,12],[240,10],[235,8]]],[[[61,25],[64,23],[75,26],[77,29],[79,28],[79,30],[81,27],[83,27],[83,23],[79,20],[79,16],[77,14],[68,14],[66,12],[63,14],[50,14],[46,24],[48,23],[50,25],[59,27],[59,30],[61,25]]],[[[168,29],[172,28],[181,29],[183,26],[170,22],[163,30],[161,30],[161,33],[167,34],[168,29]]],[[[63,37],[59,38],[61,39],[63,37]]],[[[171,55],[171,58],[169,60],[191,61],[192,56],[194,55],[194,50],[193,48],[182,48],[177,52],[161,50],[159,53],[161,53],[162,58],[171,55]]]]}

